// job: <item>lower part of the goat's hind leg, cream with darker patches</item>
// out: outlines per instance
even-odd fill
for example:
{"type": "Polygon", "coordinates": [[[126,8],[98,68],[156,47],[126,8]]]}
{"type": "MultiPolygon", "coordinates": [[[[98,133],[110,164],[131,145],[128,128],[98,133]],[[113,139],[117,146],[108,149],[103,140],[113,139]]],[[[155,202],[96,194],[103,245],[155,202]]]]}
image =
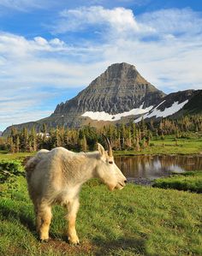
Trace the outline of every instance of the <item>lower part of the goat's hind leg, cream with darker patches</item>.
{"type": "Polygon", "coordinates": [[[40,205],[37,212],[37,229],[40,241],[49,240],[49,228],[52,213],[50,205],[40,205]]]}

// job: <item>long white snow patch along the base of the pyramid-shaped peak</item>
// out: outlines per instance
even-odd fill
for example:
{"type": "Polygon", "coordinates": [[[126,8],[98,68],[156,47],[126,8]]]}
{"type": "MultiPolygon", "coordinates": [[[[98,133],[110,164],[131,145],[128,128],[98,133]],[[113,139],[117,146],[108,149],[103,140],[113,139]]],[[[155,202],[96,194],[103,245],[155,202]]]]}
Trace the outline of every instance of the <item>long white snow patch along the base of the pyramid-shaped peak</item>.
{"type": "MultiPolygon", "coordinates": [[[[144,104],[144,103],[143,103],[144,104]]],[[[150,106],[146,109],[143,109],[143,104],[140,105],[140,108],[129,110],[127,112],[118,113],[116,115],[110,115],[109,113],[106,113],[104,111],[102,112],[93,112],[93,111],[86,111],[81,116],[90,117],[92,120],[97,121],[117,121],[120,120],[124,116],[136,116],[140,114],[145,114],[146,112],[149,112],[153,106],[150,106]]]]}

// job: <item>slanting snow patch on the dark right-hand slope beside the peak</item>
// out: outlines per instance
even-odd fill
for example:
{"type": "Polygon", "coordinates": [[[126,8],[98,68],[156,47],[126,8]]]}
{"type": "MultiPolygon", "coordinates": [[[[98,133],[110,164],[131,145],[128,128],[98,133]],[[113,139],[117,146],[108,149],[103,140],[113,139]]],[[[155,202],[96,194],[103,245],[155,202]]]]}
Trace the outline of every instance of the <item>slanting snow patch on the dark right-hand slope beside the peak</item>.
{"type": "Polygon", "coordinates": [[[163,100],[162,103],[158,104],[157,107],[155,107],[153,110],[151,110],[151,112],[146,113],[146,115],[140,116],[139,118],[135,119],[134,122],[140,122],[142,117],[144,119],[146,119],[146,118],[150,118],[152,116],[156,116],[156,118],[157,117],[171,116],[171,115],[175,114],[177,111],[181,110],[183,108],[183,106],[185,104],[187,104],[188,99],[181,102],[180,104],[178,103],[178,101],[176,101],[169,108],[165,108],[163,111],[162,110],[157,110],[158,106],[163,104],[164,102],[165,102],[165,100],[163,100]]]}

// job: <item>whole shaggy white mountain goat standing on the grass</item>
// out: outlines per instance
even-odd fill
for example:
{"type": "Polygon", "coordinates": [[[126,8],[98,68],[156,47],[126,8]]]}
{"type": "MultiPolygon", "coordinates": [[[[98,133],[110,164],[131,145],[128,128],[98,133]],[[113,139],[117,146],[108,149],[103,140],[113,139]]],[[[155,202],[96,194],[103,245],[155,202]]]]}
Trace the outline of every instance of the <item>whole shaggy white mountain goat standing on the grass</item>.
{"type": "Polygon", "coordinates": [[[63,147],[42,149],[26,164],[27,186],[36,214],[40,241],[49,240],[51,206],[58,203],[68,209],[68,241],[79,243],[75,230],[79,193],[83,183],[95,177],[112,191],[126,185],[126,177],[114,162],[110,141],[108,152],[98,144],[98,152],[70,152],[63,147]]]}

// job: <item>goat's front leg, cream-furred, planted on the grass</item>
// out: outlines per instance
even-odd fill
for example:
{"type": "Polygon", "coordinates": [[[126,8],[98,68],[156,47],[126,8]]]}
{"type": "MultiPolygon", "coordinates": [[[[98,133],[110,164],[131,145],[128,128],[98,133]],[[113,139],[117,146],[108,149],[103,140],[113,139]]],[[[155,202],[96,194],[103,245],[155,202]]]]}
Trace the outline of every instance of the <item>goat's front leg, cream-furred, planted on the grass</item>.
{"type": "Polygon", "coordinates": [[[79,210],[80,202],[76,198],[68,203],[68,241],[73,244],[79,244],[80,240],[76,234],[75,221],[76,214],[79,210]]]}

